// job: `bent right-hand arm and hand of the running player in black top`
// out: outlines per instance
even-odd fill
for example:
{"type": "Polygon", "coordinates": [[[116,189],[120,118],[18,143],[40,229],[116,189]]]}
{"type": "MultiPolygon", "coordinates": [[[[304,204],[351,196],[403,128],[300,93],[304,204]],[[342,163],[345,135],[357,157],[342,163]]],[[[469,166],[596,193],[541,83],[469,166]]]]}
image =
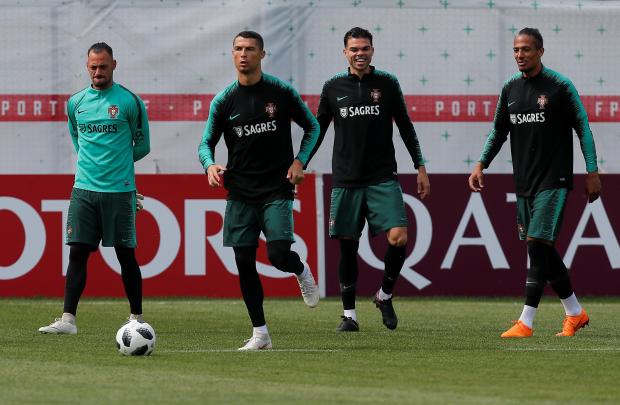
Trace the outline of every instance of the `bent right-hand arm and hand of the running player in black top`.
{"type": "Polygon", "coordinates": [[[299,152],[288,169],[286,178],[292,184],[299,184],[304,179],[304,168],[308,166],[310,154],[319,139],[319,122],[301,99],[299,93],[291,88],[291,118],[304,130],[299,152]]]}

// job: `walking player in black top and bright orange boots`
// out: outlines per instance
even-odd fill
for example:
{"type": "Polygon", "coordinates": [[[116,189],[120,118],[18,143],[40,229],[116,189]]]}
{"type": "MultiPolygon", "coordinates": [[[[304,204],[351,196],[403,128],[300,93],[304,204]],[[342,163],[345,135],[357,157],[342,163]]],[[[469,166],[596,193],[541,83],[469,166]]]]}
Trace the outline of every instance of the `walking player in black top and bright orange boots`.
{"type": "Polygon", "coordinates": [[[601,192],[596,150],[588,116],[573,83],[543,66],[543,38],[535,28],[524,28],[514,38],[519,73],[502,87],[493,129],[480,161],[469,176],[469,187],[482,191],[483,170],[489,167],[510,133],[510,149],[517,194],[517,229],[527,240],[530,268],[525,282],[525,305],[519,320],[503,338],[532,336],[532,325],[545,285],[560,297],[566,317],[557,336],[573,336],[589,322],[579,304],[566,266],[554,247],[562,214],[573,186],[573,129],[579,137],[588,175],[588,202],[601,192]]]}

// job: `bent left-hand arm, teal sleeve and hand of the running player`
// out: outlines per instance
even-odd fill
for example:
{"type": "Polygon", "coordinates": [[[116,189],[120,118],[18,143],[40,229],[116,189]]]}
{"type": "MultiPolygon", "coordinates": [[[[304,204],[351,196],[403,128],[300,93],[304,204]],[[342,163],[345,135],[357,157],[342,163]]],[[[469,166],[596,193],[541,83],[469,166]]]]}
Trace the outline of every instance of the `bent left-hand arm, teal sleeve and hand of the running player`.
{"type": "Polygon", "coordinates": [[[225,123],[224,115],[220,110],[220,98],[216,96],[211,101],[207,125],[202,133],[200,145],[198,145],[198,159],[209,178],[209,185],[211,187],[220,187],[222,185],[220,175],[226,170],[224,166],[215,163],[215,146],[222,137],[225,123]]]}

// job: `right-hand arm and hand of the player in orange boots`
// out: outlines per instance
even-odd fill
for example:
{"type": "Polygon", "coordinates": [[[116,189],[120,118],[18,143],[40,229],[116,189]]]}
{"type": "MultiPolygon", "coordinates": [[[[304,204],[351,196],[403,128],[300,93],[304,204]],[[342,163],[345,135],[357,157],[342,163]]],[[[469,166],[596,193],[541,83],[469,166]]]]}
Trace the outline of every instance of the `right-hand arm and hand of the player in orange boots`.
{"type": "Polygon", "coordinates": [[[593,202],[598,199],[601,194],[601,179],[598,175],[598,165],[596,159],[596,146],[594,145],[594,137],[592,136],[592,130],[590,129],[590,123],[588,121],[588,114],[586,109],[579,98],[579,93],[571,81],[567,82],[566,92],[568,97],[569,111],[572,117],[572,127],[577,133],[579,138],[579,144],[581,146],[581,153],[586,162],[586,176],[585,195],[588,198],[588,202],[593,202]]]}

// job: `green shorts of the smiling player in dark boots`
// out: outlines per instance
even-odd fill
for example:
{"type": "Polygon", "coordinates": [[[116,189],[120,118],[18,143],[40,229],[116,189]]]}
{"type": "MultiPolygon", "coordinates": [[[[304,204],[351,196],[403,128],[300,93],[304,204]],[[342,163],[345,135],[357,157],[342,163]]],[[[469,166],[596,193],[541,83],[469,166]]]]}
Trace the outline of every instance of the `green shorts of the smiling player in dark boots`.
{"type": "Polygon", "coordinates": [[[368,221],[371,235],[406,227],[403,191],[396,180],[359,188],[336,187],[329,208],[329,236],[359,239],[368,221]]]}

